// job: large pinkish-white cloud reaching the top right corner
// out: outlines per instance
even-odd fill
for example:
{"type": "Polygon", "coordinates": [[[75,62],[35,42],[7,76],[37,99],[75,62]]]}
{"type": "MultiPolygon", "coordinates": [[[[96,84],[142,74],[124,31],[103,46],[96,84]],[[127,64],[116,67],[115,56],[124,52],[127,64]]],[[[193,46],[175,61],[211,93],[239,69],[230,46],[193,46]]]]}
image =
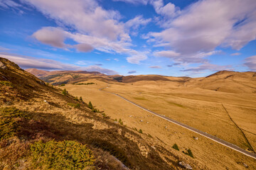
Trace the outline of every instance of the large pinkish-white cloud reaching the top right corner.
{"type": "Polygon", "coordinates": [[[220,45],[239,50],[256,38],[255,9],[255,0],[198,1],[169,20],[165,30],[149,33],[148,42],[188,59],[212,52],[220,45]]]}

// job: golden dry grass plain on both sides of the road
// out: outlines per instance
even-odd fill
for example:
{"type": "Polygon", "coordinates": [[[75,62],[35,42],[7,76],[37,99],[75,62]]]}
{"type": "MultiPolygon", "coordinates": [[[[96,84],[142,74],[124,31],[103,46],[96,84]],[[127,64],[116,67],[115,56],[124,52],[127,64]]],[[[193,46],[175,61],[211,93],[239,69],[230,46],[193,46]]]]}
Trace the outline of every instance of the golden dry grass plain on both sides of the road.
{"type": "MultiPolygon", "coordinates": [[[[222,103],[255,147],[255,95],[231,94],[184,86],[176,81],[137,81],[132,84],[112,82],[104,91],[99,91],[108,84],[96,79],[80,83],[87,82],[95,84],[90,86],[67,84],[65,88],[73,96],[82,96],[84,101],[91,101],[112,119],[121,118],[127,127],[142,129],[144,134],[151,135],[165,148],[171,148],[174,143],[181,151],[190,148],[195,159],[210,169],[245,169],[242,163],[249,165],[249,169],[256,169],[255,159],[157,118],[105,91],[124,96],[151,111],[216,135],[244,149],[247,147],[246,141],[240,130],[230,120],[222,103]],[[193,140],[194,136],[199,140],[193,140]]],[[[182,155],[181,152],[176,154],[182,155]]]]}

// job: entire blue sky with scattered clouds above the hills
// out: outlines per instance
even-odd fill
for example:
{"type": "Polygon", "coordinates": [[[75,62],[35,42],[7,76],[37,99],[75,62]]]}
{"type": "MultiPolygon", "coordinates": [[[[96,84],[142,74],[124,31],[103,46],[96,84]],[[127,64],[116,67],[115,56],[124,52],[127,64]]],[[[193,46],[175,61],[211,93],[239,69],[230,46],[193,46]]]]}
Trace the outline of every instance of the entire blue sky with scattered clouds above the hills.
{"type": "Polygon", "coordinates": [[[0,0],[21,68],[205,77],[256,72],[255,0],[0,0]]]}

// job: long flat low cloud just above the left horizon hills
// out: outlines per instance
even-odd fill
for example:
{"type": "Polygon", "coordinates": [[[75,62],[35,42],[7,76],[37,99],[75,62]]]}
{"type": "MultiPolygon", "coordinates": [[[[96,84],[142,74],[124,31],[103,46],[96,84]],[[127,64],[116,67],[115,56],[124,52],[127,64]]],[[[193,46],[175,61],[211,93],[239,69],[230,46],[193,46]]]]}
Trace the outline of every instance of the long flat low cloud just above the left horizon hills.
{"type": "Polygon", "coordinates": [[[57,62],[55,60],[47,60],[36,57],[28,57],[23,55],[13,55],[13,54],[1,54],[0,57],[4,57],[11,62],[15,62],[23,69],[36,68],[36,69],[46,69],[46,70],[85,70],[88,72],[101,72],[104,74],[117,74],[114,70],[105,69],[96,65],[91,65],[88,67],[80,67],[73,64],[65,64],[63,62],[57,62]]]}

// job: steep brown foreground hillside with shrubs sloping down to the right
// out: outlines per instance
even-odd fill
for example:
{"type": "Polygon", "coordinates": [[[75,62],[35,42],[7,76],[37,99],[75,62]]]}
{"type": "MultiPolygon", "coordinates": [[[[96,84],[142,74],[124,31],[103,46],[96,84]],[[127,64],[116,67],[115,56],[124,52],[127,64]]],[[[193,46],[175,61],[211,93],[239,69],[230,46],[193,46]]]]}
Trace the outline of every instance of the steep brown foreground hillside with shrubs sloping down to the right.
{"type": "Polygon", "coordinates": [[[208,169],[4,58],[0,106],[0,169],[208,169]]]}

